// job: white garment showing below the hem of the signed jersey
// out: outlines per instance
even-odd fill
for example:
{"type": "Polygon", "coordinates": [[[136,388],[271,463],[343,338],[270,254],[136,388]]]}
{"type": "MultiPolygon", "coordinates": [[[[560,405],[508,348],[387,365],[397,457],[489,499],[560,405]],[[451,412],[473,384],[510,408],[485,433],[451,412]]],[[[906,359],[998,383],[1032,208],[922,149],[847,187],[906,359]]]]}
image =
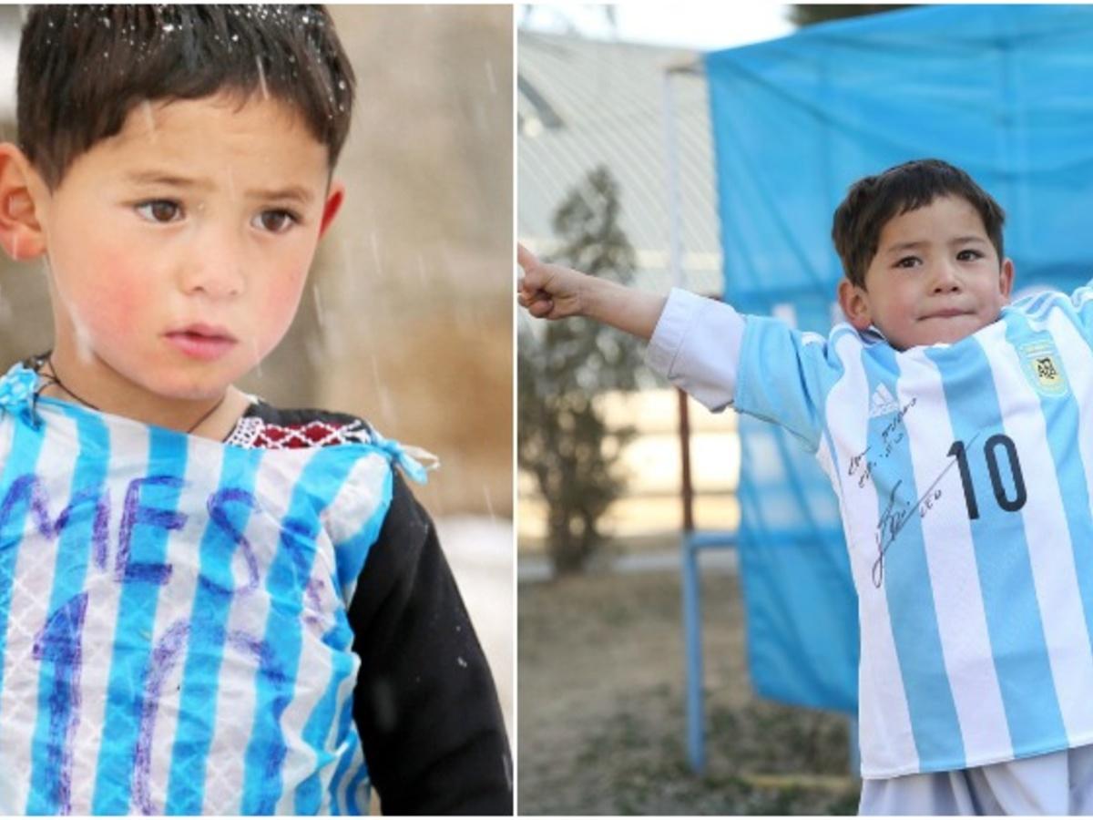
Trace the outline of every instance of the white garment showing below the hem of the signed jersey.
{"type": "Polygon", "coordinates": [[[1093,746],[861,783],[860,815],[1090,815],[1093,746]]]}

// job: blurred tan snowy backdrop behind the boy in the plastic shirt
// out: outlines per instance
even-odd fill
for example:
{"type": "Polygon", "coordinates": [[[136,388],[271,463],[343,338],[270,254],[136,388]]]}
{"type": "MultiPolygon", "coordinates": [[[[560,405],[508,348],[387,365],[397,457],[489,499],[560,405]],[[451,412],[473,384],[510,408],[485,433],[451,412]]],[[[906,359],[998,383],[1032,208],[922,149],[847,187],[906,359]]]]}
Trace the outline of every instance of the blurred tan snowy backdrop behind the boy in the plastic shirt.
{"type": "MultiPolygon", "coordinates": [[[[13,140],[22,7],[0,7],[0,137],[13,140]]],[[[513,12],[331,8],[357,97],[345,203],[287,337],[242,386],[368,419],[437,454],[414,493],[513,726],[513,12]]],[[[40,262],[0,261],[0,359],[51,339],[40,262]]],[[[7,364],[4,365],[8,366],[7,364]]]]}

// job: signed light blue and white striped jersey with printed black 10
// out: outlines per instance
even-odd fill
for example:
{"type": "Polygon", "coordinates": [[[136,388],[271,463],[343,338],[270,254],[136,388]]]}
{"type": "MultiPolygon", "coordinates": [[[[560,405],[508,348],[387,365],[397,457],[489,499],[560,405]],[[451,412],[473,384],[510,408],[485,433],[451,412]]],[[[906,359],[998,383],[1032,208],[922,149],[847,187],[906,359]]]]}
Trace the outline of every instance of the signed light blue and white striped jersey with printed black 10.
{"type": "Polygon", "coordinates": [[[903,352],[669,298],[650,364],[786,427],[838,495],[865,777],[1093,743],[1091,339],[1090,288],[903,352]]]}

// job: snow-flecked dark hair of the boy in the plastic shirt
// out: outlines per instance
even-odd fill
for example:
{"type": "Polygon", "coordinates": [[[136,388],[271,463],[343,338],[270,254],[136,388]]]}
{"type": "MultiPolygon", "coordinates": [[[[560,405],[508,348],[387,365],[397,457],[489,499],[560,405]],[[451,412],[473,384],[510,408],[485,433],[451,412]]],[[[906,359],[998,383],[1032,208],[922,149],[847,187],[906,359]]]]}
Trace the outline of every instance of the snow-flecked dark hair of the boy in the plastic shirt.
{"type": "Polygon", "coordinates": [[[138,105],[227,91],[286,104],[333,167],[354,84],[320,5],[39,5],[19,47],[19,147],[56,188],[138,105]]]}

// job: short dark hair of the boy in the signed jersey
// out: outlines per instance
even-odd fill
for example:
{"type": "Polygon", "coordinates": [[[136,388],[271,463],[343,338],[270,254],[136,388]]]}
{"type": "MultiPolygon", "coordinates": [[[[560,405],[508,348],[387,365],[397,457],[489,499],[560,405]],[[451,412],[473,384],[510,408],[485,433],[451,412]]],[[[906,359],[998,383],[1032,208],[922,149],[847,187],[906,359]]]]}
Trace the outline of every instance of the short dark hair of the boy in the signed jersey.
{"type": "Polygon", "coordinates": [[[835,209],[831,237],[846,278],[865,288],[866,271],[877,256],[881,230],[889,220],[924,208],[938,197],[960,197],[979,212],[1001,262],[1006,213],[998,202],[954,165],[942,160],[914,160],[859,179],[835,209]]]}

